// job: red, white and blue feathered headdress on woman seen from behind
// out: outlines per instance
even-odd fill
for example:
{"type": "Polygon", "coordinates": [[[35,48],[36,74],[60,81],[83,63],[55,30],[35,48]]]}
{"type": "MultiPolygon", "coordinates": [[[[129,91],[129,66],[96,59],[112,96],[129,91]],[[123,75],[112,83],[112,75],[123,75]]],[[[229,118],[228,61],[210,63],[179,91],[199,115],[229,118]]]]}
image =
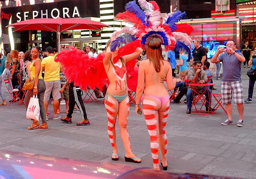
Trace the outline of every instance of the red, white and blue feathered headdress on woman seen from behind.
{"type": "MultiPolygon", "coordinates": [[[[183,23],[183,26],[176,24],[181,19],[186,18],[186,12],[169,13],[162,21],[159,6],[155,1],[138,0],[138,3],[140,7],[135,0],[127,3],[126,11],[116,15],[117,20],[129,23],[133,27],[125,27],[113,33],[111,38],[115,40],[110,44],[112,52],[126,44],[125,49],[132,53],[134,51],[130,48],[134,49],[146,45],[150,37],[157,36],[162,40],[162,45],[165,46],[166,50],[175,48],[176,51],[179,51],[182,49],[185,53],[190,54],[192,39],[188,35],[193,28],[186,23],[183,23]],[[130,46],[129,43],[136,39],[140,41],[140,44],[130,46]]],[[[119,57],[124,55],[119,50],[118,54],[119,57]]]]}

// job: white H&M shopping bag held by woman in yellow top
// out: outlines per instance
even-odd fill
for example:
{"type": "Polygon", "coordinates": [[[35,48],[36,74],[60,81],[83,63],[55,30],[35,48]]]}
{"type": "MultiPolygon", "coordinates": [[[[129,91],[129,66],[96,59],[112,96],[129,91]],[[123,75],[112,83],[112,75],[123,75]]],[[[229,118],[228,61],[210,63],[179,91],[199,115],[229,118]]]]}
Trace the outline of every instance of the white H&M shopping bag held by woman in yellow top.
{"type": "Polygon", "coordinates": [[[27,109],[27,119],[35,119],[39,120],[39,115],[40,115],[40,107],[39,107],[39,101],[37,98],[37,95],[30,98],[29,104],[28,104],[28,109],[27,109]]]}

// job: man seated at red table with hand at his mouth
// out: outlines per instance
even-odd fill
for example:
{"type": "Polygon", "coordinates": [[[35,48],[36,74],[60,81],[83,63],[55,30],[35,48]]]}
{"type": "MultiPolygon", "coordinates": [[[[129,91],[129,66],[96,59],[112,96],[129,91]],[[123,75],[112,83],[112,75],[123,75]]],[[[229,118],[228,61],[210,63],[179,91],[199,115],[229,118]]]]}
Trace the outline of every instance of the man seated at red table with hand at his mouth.
{"type": "MultiPolygon", "coordinates": [[[[195,61],[194,62],[194,70],[190,70],[188,72],[188,83],[207,83],[208,82],[208,77],[205,71],[201,70],[202,67],[202,62],[201,61],[195,61]]],[[[205,90],[205,86],[195,86],[196,92],[198,93],[203,93],[205,90]]],[[[191,113],[191,108],[192,108],[192,101],[193,101],[193,92],[191,89],[191,86],[188,84],[188,92],[187,92],[187,114],[191,113]]],[[[214,111],[213,109],[209,109],[209,98],[211,97],[211,90],[208,88],[208,91],[206,90],[204,92],[206,103],[205,103],[205,111],[214,111]]]]}

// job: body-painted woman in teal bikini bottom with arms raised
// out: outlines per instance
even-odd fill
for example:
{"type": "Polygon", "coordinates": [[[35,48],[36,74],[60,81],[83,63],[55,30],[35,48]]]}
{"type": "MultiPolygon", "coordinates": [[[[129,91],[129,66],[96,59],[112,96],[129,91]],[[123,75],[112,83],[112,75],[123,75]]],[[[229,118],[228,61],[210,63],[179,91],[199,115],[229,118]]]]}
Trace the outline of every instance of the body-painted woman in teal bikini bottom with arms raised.
{"type": "Polygon", "coordinates": [[[109,85],[107,94],[105,96],[105,106],[108,115],[108,136],[113,147],[112,160],[118,160],[118,150],[116,146],[116,117],[118,115],[118,125],[120,128],[121,139],[125,149],[125,161],[140,163],[141,160],[132,153],[129,134],[127,130],[127,122],[129,116],[129,98],[127,90],[126,80],[126,67],[125,63],[136,58],[142,53],[141,48],[137,48],[132,54],[120,57],[120,59],[114,64],[113,58],[117,55],[115,52],[110,51],[110,47],[107,48],[105,58],[103,59],[103,65],[106,70],[109,85]]]}

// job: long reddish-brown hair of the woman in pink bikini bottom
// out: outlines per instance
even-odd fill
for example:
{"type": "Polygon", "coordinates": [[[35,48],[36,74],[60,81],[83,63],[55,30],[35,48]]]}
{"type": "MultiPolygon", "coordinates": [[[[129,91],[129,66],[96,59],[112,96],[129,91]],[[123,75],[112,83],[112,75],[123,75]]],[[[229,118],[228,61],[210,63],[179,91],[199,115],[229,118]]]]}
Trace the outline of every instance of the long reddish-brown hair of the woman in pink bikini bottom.
{"type": "Polygon", "coordinates": [[[161,70],[161,63],[164,65],[161,45],[162,40],[156,36],[150,37],[147,41],[147,58],[153,63],[157,73],[161,70]]]}

